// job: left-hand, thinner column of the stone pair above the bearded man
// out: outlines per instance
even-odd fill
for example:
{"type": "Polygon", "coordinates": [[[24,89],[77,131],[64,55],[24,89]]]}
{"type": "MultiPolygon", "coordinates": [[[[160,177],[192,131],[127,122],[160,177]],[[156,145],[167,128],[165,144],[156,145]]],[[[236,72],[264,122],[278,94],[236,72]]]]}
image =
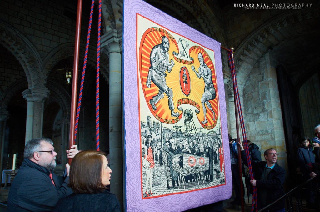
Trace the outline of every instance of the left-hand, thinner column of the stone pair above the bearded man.
{"type": "Polygon", "coordinates": [[[26,121],[26,138],[25,142],[32,139],[32,129],[33,129],[33,98],[30,90],[24,90],[22,92],[23,98],[27,100],[27,121],[26,121]]]}

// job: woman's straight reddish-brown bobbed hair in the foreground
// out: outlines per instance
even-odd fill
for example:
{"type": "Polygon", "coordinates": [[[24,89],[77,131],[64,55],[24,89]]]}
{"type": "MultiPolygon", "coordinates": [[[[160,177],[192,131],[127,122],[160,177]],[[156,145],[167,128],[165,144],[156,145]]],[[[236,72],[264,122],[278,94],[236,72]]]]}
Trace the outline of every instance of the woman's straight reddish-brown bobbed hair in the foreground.
{"type": "Polygon", "coordinates": [[[101,169],[105,153],[96,150],[81,151],[70,166],[69,186],[74,193],[99,193],[105,189],[101,169]]]}

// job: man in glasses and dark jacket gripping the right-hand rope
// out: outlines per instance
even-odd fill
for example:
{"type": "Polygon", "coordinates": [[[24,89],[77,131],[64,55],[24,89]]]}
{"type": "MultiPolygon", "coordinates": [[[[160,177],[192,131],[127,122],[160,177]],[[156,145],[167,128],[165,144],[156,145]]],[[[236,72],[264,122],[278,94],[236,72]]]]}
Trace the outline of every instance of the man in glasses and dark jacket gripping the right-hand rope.
{"type": "MultiPolygon", "coordinates": [[[[241,159],[246,166],[248,162],[246,153],[241,143],[241,159]]],[[[252,171],[254,172],[254,180],[250,180],[253,186],[257,187],[258,210],[278,200],[284,195],[283,184],[285,180],[285,170],[279,166],[277,162],[277,151],[269,148],[264,152],[266,161],[254,162],[251,159],[252,171]]],[[[284,212],[285,199],[282,199],[268,208],[268,211],[284,212]]]]}

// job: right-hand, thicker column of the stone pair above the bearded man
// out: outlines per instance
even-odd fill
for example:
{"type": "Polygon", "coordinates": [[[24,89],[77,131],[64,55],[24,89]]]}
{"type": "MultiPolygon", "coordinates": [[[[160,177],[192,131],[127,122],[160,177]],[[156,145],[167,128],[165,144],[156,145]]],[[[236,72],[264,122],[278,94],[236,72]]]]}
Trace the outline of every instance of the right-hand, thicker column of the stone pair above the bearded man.
{"type": "Polygon", "coordinates": [[[49,96],[47,88],[31,88],[31,95],[33,98],[33,129],[32,137],[40,138],[42,136],[43,113],[44,113],[44,99],[49,96]]]}

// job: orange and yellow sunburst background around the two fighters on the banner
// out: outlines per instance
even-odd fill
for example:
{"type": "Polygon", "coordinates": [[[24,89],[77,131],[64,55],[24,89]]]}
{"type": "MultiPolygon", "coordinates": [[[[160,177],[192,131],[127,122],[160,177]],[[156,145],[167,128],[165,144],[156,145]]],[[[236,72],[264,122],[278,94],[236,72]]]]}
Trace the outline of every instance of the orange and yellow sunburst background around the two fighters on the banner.
{"type": "MultiPolygon", "coordinates": [[[[212,82],[213,86],[216,90],[216,94],[218,94],[217,90],[217,82],[216,82],[216,75],[215,75],[215,68],[214,68],[214,58],[210,58],[209,54],[200,46],[192,46],[189,49],[189,56],[194,58],[194,60],[191,61],[182,61],[181,59],[177,59],[177,57],[174,55],[173,52],[179,53],[178,44],[175,38],[173,38],[169,32],[167,32],[165,29],[162,28],[156,28],[151,27],[147,29],[140,41],[140,48],[139,48],[139,55],[140,55],[140,61],[139,61],[139,68],[140,68],[140,80],[142,83],[142,91],[145,96],[145,100],[148,105],[148,109],[151,111],[151,113],[160,121],[166,122],[166,123],[176,123],[182,118],[182,111],[179,111],[177,108],[178,102],[181,103],[181,99],[189,99],[192,101],[195,101],[200,107],[199,112],[197,113],[197,118],[199,123],[207,128],[212,129],[218,120],[219,115],[219,104],[218,104],[218,96],[215,97],[215,99],[208,101],[210,105],[212,106],[212,110],[215,113],[215,116],[211,110],[209,110],[208,106],[206,107],[206,119],[208,122],[206,124],[202,124],[201,121],[204,120],[204,112],[203,112],[203,106],[201,103],[201,97],[204,94],[204,79],[198,78],[194,71],[191,69],[191,66],[194,65],[196,71],[200,67],[200,63],[198,61],[198,53],[202,53],[204,57],[205,64],[211,69],[212,72],[212,82]],[[150,68],[150,53],[154,46],[161,44],[161,39],[163,36],[166,36],[169,39],[170,47],[169,47],[169,60],[174,60],[174,66],[169,73],[166,71],[166,84],[169,86],[169,88],[173,91],[173,102],[175,104],[175,112],[179,112],[179,117],[172,117],[171,116],[171,110],[168,106],[168,98],[164,94],[164,98],[161,99],[157,104],[156,110],[153,110],[152,106],[150,105],[149,101],[152,99],[153,96],[158,94],[159,88],[151,82],[150,87],[146,85],[148,72],[150,68]],[[181,74],[181,68],[185,67],[188,72],[189,82],[188,82],[188,89],[189,92],[182,90],[180,78],[181,74]]],[[[182,110],[180,108],[180,110],[182,110]]]]}

